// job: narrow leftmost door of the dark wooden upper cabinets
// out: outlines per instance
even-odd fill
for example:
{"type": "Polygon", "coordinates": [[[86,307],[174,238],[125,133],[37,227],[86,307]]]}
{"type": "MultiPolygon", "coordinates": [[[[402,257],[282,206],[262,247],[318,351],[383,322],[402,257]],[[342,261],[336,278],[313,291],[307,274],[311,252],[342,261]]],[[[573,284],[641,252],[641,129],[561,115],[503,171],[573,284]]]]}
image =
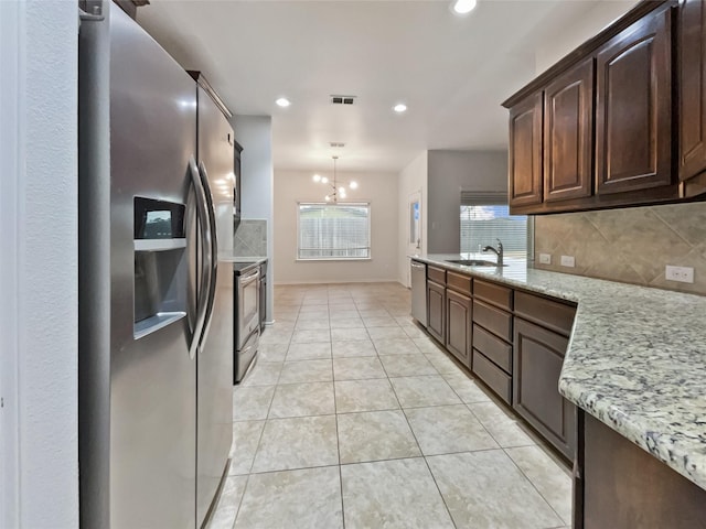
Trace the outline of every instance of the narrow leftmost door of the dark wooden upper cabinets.
{"type": "Polygon", "coordinates": [[[542,204],[542,93],[510,110],[510,206],[542,204]]]}

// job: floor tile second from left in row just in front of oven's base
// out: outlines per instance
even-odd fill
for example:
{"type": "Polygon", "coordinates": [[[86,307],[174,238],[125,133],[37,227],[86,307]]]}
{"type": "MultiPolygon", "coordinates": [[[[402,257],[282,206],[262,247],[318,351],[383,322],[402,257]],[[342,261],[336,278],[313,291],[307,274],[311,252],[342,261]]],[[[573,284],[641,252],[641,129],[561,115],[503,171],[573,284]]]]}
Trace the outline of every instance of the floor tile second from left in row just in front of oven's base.
{"type": "Polygon", "coordinates": [[[333,382],[280,384],[269,407],[269,418],[335,413],[333,382]]]}

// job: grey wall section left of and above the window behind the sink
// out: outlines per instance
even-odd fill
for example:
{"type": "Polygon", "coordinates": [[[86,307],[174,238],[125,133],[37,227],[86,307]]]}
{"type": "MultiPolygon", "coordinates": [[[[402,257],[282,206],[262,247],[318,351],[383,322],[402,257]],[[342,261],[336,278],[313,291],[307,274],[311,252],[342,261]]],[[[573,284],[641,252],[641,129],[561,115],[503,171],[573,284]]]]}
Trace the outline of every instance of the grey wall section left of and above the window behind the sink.
{"type": "Polygon", "coordinates": [[[507,192],[506,151],[429,151],[429,253],[460,251],[461,191],[507,192]]]}

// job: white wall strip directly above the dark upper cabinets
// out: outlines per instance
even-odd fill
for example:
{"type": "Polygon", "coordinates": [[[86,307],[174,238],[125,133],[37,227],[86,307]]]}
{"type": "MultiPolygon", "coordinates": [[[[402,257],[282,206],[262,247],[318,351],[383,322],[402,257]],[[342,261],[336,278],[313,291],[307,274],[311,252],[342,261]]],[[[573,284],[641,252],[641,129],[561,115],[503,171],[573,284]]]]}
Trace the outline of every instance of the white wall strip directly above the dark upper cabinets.
{"type": "Polygon", "coordinates": [[[577,23],[557,28],[553,32],[552,45],[537,50],[535,54],[535,72],[537,75],[544,73],[586,41],[596,36],[611,22],[630,11],[635,3],[637,0],[605,0],[596,2],[596,7],[581,17],[577,23]]]}

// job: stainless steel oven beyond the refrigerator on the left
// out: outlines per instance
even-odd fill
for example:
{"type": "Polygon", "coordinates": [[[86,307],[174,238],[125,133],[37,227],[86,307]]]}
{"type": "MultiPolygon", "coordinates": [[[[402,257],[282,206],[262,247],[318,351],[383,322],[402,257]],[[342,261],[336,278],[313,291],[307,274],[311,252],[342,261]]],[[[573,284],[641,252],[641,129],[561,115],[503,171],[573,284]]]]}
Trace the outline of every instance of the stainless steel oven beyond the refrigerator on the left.
{"type": "Polygon", "coordinates": [[[239,382],[255,361],[260,336],[260,272],[255,263],[235,267],[234,382],[239,382]]]}

